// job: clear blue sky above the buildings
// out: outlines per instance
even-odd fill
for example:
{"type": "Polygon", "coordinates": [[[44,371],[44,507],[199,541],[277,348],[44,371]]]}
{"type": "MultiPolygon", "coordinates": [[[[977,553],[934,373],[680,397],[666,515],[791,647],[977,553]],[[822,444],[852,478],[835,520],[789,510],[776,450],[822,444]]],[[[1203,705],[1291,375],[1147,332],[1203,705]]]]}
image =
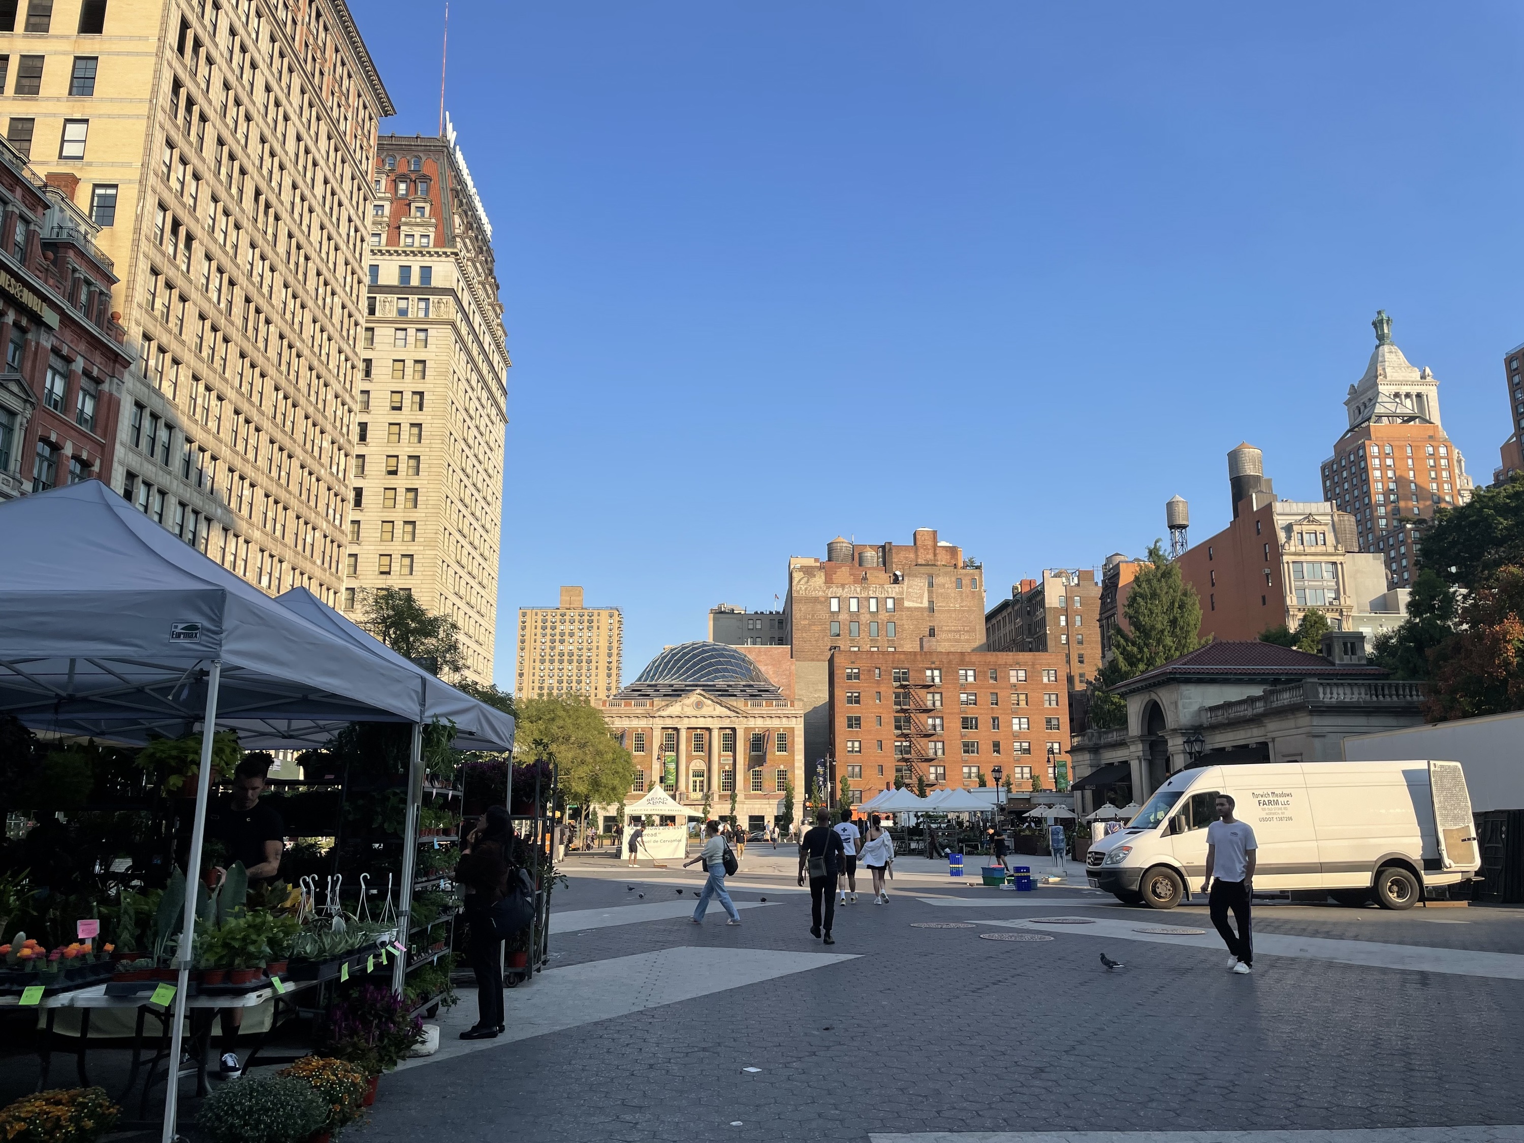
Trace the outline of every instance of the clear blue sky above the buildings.
{"type": "MultiPolygon", "coordinates": [[[[442,5],[357,14],[437,122],[442,5]]],[[[559,584],[625,678],[914,527],[992,600],[1097,565],[1265,450],[1315,498],[1378,308],[1478,483],[1524,341],[1524,8],[451,6],[509,372],[497,678],[559,584]]]]}

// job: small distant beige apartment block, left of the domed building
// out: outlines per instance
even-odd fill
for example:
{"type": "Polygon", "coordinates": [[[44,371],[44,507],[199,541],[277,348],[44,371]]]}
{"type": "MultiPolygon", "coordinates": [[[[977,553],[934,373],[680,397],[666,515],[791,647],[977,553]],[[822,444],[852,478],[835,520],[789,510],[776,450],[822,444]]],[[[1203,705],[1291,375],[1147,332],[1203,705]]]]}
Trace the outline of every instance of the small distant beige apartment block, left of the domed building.
{"type": "Polygon", "coordinates": [[[518,608],[514,693],[584,695],[597,704],[619,690],[625,617],[617,607],[585,607],[582,588],[561,588],[559,607],[518,608]]]}

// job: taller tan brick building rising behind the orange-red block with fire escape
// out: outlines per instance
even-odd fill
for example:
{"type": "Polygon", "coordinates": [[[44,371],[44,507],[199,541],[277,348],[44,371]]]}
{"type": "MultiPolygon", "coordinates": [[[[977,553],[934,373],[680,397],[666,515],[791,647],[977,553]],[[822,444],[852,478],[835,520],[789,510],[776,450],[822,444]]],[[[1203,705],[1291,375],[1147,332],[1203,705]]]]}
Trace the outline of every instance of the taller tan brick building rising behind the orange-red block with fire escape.
{"type": "Polygon", "coordinates": [[[910,544],[837,536],[823,561],[789,558],[783,616],[808,770],[831,750],[831,654],[983,649],[985,575],[931,527],[917,527],[910,544]]]}

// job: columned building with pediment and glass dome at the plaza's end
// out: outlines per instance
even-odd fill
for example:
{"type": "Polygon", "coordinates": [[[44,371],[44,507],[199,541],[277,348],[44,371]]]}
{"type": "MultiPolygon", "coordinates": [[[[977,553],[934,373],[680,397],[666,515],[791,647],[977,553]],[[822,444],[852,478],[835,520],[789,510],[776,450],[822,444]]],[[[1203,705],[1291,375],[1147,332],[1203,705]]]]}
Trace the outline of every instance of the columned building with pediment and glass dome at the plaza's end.
{"type": "Polygon", "coordinates": [[[799,817],[805,709],[739,649],[703,642],[668,648],[599,706],[636,759],[625,805],[660,785],[695,817],[721,817],[735,796],[735,814],[751,831],[785,815],[792,786],[799,817]]]}

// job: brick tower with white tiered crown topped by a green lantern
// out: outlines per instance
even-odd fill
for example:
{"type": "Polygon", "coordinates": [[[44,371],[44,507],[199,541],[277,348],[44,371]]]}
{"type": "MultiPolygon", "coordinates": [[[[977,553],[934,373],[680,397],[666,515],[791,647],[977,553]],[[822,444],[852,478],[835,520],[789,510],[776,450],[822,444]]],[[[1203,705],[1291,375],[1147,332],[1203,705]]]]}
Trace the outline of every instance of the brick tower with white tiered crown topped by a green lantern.
{"type": "Polygon", "coordinates": [[[1378,552],[1393,588],[1411,587],[1414,521],[1471,500],[1466,462],[1439,416],[1439,379],[1408,364],[1391,341],[1391,319],[1370,323],[1376,347],[1349,387],[1349,428],[1323,462],[1323,495],[1355,521],[1352,550],[1378,552]]]}

